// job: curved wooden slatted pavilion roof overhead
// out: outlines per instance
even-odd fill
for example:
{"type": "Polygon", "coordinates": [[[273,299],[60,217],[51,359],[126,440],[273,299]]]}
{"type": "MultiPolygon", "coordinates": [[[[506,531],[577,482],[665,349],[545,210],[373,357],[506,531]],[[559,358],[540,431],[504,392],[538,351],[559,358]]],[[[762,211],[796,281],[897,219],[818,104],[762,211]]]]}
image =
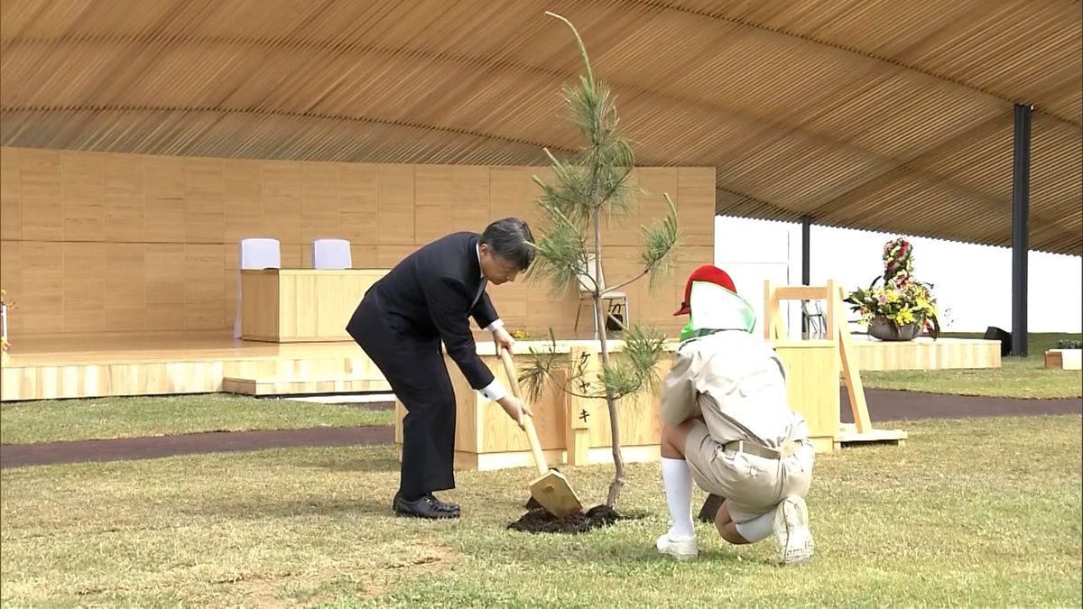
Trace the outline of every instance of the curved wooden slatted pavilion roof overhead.
{"type": "Polygon", "coordinates": [[[1083,254],[1078,0],[3,0],[0,143],[544,164],[579,28],[640,165],[717,167],[719,213],[1083,254]]]}

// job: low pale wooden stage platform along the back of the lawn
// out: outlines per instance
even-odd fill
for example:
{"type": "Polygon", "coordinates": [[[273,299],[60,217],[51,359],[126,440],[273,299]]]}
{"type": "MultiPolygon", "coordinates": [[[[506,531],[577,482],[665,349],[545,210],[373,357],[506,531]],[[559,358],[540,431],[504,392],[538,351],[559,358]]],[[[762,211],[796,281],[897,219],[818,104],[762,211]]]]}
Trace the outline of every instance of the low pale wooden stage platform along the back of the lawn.
{"type": "MultiPolygon", "coordinates": [[[[1000,342],[854,336],[860,370],[1000,367],[1000,342]]],[[[230,391],[255,396],[388,392],[353,342],[272,344],[230,331],[12,337],[0,399],[45,400],[230,391]]]]}

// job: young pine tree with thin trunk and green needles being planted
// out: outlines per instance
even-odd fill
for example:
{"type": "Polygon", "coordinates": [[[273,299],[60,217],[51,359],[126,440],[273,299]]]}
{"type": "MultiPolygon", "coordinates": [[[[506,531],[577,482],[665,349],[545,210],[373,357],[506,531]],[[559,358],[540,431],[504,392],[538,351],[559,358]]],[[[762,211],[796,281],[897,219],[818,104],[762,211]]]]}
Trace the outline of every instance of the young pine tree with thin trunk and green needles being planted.
{"type": "Polygon", "coordinates": [[[546,150],[553,181],[547,183],[534,177],[542,189],[537,205],[543,219],[536,233],[540,236],[534,244],[537,256],[531,276],[547,281],[554,295],[566,294],[585,281],[583,288],[590,293],[593,303],[602,365],[599,372],[598,367],[589,365],[589,358],[573,362],[566,354],[557,353],[556,339],[550,329],[550,348],[532,350],[533,358],[523,368],[521,383],[533,400],[542,394],[546,384],[557,384],[573,396],[606,401],[616,468],[606,505],[613,507],[624,485],[617,402],[657,387],[656,364],[665,352],[666,339],[658,328],[639,326],[609,315],[602,308],[602,300],[606,293],[619,290],[644,275],[650,287],[654,288],[658,280],[670,272],[681,235],[677,228],[677,208],[669,195],[664,194],[668,205],[666,216],[639,230],[639,271],[615,284],[604,282],[609,285],[598,285],[600,282],[590,278],[603,276],[603,223],[610,225],[636,216],[637,199],[643,193],[631,178],[635,154],[628,140],[619,133],[619,119],[610,88],[595,80],[586,47],[575,26],[561,15],[546,14],[567,25],[583,56],[585,72],[579,76],[577,86],[565,85],[562,93],[572,124],[586,142],[567,159],[559,159],[546,150]],[[593,265],[589,273],[588,264],[593,265]],[[621,328],[624,346],[616,353],[609,350],[606,320],[616,322],[621,328]]]}

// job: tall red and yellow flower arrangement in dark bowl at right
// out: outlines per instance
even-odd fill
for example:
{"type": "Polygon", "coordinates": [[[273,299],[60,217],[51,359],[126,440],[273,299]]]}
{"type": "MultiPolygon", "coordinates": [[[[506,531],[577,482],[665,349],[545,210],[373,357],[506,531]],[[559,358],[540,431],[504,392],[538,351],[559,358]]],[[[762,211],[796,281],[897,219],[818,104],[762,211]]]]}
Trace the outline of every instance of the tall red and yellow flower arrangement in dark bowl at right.
{"type": "Polygon", "coordinates": [[[850,293],[846,301],[861,314],[861,324],[872,327],[876,322],[891,327],[895,338],[900,338],[909,324],[914,335],[927,331],[934,339],[940,335],[937,299],[932,285],[915,281],[911,274],[914,248],[903,238],[884,245],[884,274],[873,280],[867,288],[850,293]],[[884,281],[877,286],[877,282],[884,281]]]}

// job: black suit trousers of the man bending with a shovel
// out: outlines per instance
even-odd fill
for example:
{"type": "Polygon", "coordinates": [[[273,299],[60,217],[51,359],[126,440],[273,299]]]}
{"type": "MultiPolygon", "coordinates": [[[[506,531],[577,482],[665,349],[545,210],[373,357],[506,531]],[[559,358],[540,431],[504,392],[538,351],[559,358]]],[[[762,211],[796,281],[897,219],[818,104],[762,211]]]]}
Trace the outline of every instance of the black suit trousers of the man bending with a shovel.
{"type": "Polygon", "coordinates": [[[406,407],[399,490],[405,496],[455,488],[455,390],[439,338],[393,327],[377,290],[362,299],[347,329],[406,407]]]}

